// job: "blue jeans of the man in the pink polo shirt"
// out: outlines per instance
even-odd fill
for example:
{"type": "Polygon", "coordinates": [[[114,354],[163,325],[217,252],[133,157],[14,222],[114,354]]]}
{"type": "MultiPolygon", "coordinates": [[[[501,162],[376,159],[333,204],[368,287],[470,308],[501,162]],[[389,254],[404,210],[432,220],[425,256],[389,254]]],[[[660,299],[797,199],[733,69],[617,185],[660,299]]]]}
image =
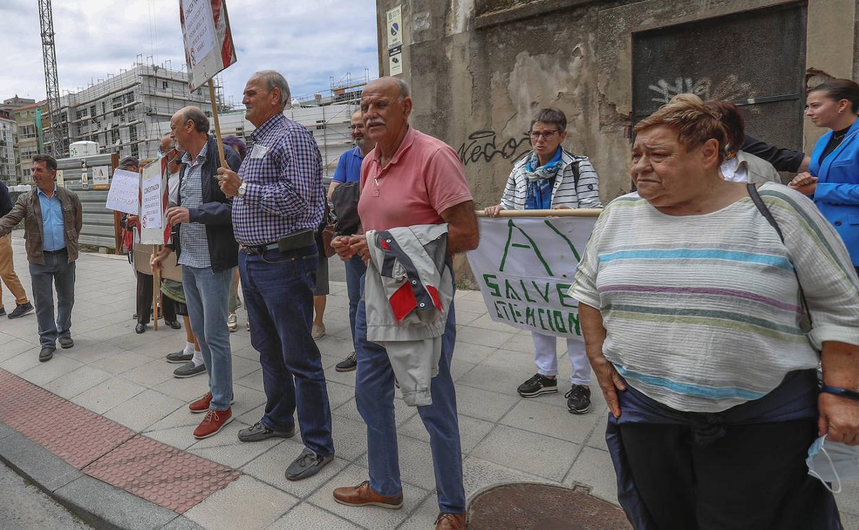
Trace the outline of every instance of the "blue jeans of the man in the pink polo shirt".
{"type": "MultiPolygon", "coordinates": [[[[387,351],[367,340],[367,308],[363,300],[358,304],[356,314],[355,341],[358,346],[355,400],[364,423],[367,423],[370,486],[384,496],[399,495],[403,486],[399,480],[397,426],[393,417],[393,369],[387,351]]],[[[462,485],[462,449],[456,392],[454,380],[450,376],[455,342],[456,318],[452,302],[442,338],[438,375],[433,377],[430,386],[432,405],[418,406],[417,412],[430,433],[439,509],[459,514],[466,511],[466,491],[462,485]]]]}

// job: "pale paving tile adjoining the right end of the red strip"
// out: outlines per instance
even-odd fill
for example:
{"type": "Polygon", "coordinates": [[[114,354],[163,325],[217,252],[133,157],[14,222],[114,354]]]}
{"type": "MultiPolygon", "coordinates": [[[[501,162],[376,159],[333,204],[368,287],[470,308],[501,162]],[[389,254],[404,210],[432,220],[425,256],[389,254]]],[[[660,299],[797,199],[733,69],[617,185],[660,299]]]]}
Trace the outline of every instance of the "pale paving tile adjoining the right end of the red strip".
{"type": "Polygon", "coordinates": [[[210,530],[255,530],[268,527],[296,503],[295,497],[243,475],[185,516],[210,530]]]}

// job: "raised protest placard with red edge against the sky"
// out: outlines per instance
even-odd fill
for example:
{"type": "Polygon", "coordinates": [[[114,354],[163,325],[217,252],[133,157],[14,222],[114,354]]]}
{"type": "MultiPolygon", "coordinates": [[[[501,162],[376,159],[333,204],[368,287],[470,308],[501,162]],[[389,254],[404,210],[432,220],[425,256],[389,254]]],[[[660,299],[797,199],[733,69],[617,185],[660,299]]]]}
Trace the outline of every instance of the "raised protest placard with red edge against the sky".
{"type": "Polygon", "coordinates": [[[188,86],[192,91],[235,63],[233,34],[225,0],[181,0],[188,86]]]}

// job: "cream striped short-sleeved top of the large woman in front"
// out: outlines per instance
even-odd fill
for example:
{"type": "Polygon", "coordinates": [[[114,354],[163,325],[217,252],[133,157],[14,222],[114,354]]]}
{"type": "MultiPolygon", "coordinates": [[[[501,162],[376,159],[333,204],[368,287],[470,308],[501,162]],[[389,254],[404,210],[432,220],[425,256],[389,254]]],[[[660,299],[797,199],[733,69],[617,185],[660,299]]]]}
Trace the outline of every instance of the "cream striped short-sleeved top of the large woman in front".
{"type": "Polygon", "coordinates": [[[823,341],[859,344],[859,280],[844,243],[801,193],[773,183],[759,192],[784,244],[751,198],[667,216],[630,193],[594,227],[570,295],[600,309],[606,358],[663,405],[724,411],[816,367],[823,341]]]}

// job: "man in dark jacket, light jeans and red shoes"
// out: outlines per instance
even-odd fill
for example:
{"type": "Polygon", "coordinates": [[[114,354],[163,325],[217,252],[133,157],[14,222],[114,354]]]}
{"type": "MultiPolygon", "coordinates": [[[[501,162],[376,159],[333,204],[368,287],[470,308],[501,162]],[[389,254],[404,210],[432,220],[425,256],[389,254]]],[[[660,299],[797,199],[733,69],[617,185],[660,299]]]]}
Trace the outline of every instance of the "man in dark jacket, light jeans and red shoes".
{"type": "MultiPolygon", "coordinates": [[[[182,285],[191,327],[203,352],[210,392],[194,401],[192,412],[205,412],[196,438],[216,434],[233,420],[233,364],[229,348],[227,312],[230,287],[238,264],[232,199],[215,178],[221,167],[215,138],[209,137],[209,119],[197,107],[185,107],[170,120],[170,134],[186,151],[179,174],[177,206],[167,211],[173,225],[173,247],[182,265],[182,285]]],[[[239,155],[224,149],[227,165],[238,170],[239,155]]],[[[152,259],[153,269],[171,252],[165,248],[152,259]]]]}

